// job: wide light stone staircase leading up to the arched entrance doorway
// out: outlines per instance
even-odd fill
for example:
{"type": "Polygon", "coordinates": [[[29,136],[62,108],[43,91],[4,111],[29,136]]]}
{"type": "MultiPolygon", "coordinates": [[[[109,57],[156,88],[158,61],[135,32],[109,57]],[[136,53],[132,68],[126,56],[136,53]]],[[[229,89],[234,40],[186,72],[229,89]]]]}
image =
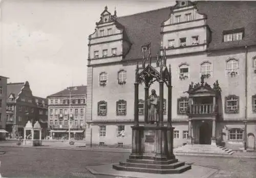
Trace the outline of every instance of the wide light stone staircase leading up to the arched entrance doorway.
{"type": "Polygon", "coordinates": [[[178,148],[174,148],[174,153],[201,154],[201,155],[232,155],[234,152],[220,145],[201,145],[201,144],[186,144],[178,148]]]}

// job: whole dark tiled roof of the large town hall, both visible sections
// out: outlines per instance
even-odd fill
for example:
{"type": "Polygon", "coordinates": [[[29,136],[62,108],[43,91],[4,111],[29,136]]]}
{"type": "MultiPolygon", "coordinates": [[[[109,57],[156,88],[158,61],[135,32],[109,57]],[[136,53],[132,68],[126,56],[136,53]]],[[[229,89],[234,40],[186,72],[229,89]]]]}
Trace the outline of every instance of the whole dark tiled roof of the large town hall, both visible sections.
{"type": "MultiPolygon", "coordinates": [[[[256,2],[244,1],[197,1],[199,13],[207,16],[207,24],[212,32],[209,49],[240,47],[256,44],[256,2]],[[245,29],[241,41],[222,42],[223,31],[245,29]]],[[[152,57],[160,49],[161,23],[168,19],[171,8],[166,7],[139,14],[117,17],[124,26],[127,38],[132,43],[124,60],[143,57],[141,46],[151,42],[152,57]]]]}

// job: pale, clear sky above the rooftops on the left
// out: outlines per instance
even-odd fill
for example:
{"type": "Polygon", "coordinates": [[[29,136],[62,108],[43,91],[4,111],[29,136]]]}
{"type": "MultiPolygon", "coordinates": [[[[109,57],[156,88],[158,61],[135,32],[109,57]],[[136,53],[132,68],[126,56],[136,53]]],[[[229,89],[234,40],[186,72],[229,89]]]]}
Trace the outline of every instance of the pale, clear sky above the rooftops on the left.
{"type": "MultiPolygon", "coordinates": [[[[1,0],[0,0],[1,2],[1,0]]],[[[46,97],[87,85],[88,36],[105,6],[117,16],[172,6],[175,1],[2,0],[0,75],[30,84],[46,97]]]]}

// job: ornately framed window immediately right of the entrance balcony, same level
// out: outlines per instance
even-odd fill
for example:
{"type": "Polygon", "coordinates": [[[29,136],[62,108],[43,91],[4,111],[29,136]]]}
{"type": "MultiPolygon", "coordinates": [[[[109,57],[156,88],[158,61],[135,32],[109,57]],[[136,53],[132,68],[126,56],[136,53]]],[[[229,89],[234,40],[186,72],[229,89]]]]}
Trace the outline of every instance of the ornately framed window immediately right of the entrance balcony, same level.
{"type": "Polygon", "coordinates": [[[225,97],[225,113],[239,113],[239,96],[229,95],[225,97]]]}

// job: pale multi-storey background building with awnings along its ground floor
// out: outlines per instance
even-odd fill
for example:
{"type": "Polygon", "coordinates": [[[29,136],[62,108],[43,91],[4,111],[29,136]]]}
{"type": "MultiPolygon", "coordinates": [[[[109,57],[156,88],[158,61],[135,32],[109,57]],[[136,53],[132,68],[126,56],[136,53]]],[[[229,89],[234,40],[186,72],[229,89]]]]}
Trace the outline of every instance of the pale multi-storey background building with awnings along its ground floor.
{"type": "Polygon", "coordinates": [[[68,87],[48,99],[48,125],[50,138],[84,139],[86,129],[87,86],[68,87]],[[70,120],[70,125],[69,125],[70,120]]]}

